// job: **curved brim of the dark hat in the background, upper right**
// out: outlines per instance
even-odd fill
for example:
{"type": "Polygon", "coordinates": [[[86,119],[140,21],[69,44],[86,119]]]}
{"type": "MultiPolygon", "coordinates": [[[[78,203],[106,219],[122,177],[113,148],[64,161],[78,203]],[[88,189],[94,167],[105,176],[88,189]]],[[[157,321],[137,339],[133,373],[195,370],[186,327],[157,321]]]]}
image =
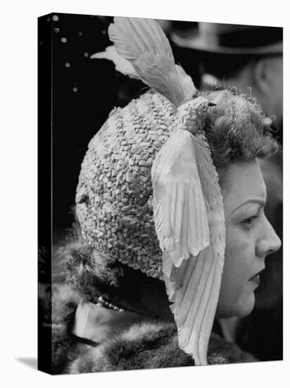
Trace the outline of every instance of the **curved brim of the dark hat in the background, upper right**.
{"type": "Polygon", "coordinates": [[[184,49],[194,49],[212,54],[232,54],[232,55],[282,55],[283,42],[276,42],[262,47],[222,47],[214,44],[208,44],[202,37],[180,37],[176,33],[172,33],[170,39],[178,47],[184,49]]]}

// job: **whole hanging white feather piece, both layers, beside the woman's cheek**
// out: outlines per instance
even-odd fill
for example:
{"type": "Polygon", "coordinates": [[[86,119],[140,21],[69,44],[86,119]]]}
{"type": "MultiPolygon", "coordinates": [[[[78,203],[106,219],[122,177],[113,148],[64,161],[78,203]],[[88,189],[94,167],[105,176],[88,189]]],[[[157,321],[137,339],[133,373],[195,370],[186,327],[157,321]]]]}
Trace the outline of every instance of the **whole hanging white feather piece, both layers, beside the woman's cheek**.
{"type": "Polygon", "coordinates": [[[156,233],[164,253],[163,276],[179,346],[196,365],[206,365],[220,293],[225,219],[217,172],[203,133],[193,136],[179,129],[172,134],[156,157],[152,178],[156,233]],[[169,203],[177,206],[170,209],[168,224],[169,203]]]}

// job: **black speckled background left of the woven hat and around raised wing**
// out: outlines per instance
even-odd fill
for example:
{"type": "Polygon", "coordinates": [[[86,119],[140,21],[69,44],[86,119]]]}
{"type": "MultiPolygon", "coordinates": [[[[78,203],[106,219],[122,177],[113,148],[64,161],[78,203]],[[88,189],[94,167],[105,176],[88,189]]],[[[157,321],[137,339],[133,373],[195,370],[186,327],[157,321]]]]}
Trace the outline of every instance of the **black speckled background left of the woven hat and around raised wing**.
{"type": "MultiPolygon", "coordinates": [[[[115,71],[111,61],[90,59],[112,44],[107,30],[113,17],[57,13],[45,22],[52,42],[53,234],[59,237],[74,221],[77,180],[89,140],[113,107],[124,107],[146,86],[115,71]]],[[[179,29],[196,25],[169,23],[179,29]]],[[[39,51],[50,49],[51,42],[40,38],[39,51]]],[[[179,51],[172,46],[178,62],[179,51]]],[[[187,66],[198,86],[195,63],[193,58],[187,66]]]]}

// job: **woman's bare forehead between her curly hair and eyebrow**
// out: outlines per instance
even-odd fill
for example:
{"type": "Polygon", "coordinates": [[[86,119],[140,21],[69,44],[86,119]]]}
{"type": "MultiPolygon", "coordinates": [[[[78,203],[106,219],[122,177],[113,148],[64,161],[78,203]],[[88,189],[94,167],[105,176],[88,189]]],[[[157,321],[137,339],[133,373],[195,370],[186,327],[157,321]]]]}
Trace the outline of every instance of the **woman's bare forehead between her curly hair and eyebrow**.
{"type": "Polygon", "coordinates": [[[258,160],[231,164],[223,179],[222,195],[225,214],[249,201],[265,202],[266,188],[258,160]]]}

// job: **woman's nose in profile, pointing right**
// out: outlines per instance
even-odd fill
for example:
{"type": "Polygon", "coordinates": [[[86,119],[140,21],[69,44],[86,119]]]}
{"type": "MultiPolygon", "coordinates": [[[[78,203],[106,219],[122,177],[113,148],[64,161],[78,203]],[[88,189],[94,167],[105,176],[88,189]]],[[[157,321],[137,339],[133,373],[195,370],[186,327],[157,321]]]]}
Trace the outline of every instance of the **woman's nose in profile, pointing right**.
{"type": "Polygon", "coordinates": [[[270,253],[276,252],[281,247],[281,240],[277,236],[275,230],[273,229],[270,222],[265,217],[265,226],[263,228],[263,233],[260,239],[258,240],[256,246],[256,254],[259,257],[265,257],[270,253]]]}

